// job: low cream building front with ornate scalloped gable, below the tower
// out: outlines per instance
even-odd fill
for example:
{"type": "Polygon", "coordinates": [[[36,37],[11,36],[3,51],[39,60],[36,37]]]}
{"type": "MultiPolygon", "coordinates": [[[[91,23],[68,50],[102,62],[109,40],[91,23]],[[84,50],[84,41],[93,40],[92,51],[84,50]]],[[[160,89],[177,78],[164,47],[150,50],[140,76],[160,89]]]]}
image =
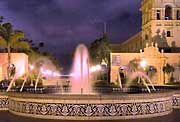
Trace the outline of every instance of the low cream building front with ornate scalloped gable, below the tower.
{"type": "Polygon", "coordinates": [[[128,73],[128,69],[124,67],[129,67],[129,62],[133,60],[138,61],[138,67],[140,67],[141,61],[146,62],[146,65],[141,67],[143,72],[150,67],[156,69],[156,73],[151,79],[154,85],[164,85],[168,82],[169,77],[163,72],[166,64],[171,64],[175,68],[173,77],[175,81],[180,81],[180,53],[164,53],[163,50],[160,52],[158,45],[152,43],[151,45],[147,44],[144,51],[141,50],[140,53],[111,53],[111,82],[118,84],[119,73],[131,76],[132,73],[128,73]]]}

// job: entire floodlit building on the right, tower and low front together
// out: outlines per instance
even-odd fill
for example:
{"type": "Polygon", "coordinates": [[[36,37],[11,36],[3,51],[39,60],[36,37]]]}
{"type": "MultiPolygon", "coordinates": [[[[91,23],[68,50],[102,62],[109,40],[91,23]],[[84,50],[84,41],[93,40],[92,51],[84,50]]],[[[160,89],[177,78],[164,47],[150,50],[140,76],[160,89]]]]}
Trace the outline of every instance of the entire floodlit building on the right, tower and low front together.
{"type": "Polygon", "coordinates": [[[111,82],[116,83],[122,67],[135,59],[146,60],[147,67],[157,70],[154,84],[165,84],[167,63],[175,68],[174,80],[180,81],[180,0],[142,0],[140,10],[142,31],[111,45],[111,82]]]}

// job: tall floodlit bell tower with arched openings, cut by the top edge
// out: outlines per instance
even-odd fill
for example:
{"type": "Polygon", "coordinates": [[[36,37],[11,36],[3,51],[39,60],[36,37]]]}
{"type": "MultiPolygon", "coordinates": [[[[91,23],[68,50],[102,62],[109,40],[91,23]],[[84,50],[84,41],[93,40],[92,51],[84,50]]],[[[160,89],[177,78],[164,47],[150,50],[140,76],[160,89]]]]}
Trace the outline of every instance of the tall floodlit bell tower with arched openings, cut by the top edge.
{"type": "Polygon", "coordinates": [[[142,0],[142,39],[180,47],[180,0],[142,0]]]}

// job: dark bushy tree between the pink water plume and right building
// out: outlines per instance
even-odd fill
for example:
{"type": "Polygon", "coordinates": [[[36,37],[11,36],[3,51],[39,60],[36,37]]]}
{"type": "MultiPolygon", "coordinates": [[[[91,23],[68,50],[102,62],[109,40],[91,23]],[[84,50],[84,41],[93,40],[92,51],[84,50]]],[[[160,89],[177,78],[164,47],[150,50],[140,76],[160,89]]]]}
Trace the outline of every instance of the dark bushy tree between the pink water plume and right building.
{"type": "Polygon", "coordinates": [[[107,34],[104,34],[100,39],[96,39],[90,46],[90,56],[94,63],[100,64],[104,61],[106,64],[109,64],[110,52],[107,34]]]}

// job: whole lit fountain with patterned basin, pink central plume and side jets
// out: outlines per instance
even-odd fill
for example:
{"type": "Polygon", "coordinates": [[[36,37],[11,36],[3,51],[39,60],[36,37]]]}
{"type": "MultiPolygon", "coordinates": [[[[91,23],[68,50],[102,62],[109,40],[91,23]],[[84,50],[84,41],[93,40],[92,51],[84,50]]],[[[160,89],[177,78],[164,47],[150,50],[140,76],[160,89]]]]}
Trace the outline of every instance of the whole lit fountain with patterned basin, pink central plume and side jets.
{"type": "MultiPolygon", "coordinates": [[[[29,66],[29,72],[25,77],[20,91],[23,91],[23,87],[27,82],[28,76],[33,72],[34,66],[29,66]]],[[[34,72],[37,70],[38,74],[34,85],[35,88],[33,88],[35,90],[40,77],[59,78],[63,76],[57,71],[55,72],[55,70],[49,66],[45,67],[45,65],[40,65],[35,68],[37,69],[34,69],[34,72]]],[[[71,77],[70,94],[48,93],[47,95],[32,93],[24,94],[23,92],[11,92],[5,95],[1,94],[1,108],[8,110],[14,115],[60,120],[132,119],[162,116],[172,112],[172,100],[174,98],[178,99],[177,94],[174,96],[172,93],[128,95],[114,93],[92,94],[90,74],[92,73],[91,76],[93,76],[93,73],[97,74],[102,70],[101,68],[101,65],[90,67],[88,50],[83,44],[80,44],[75,51],[71,73],[70,75],[67,75],[71,77]]],[[[148,83],[152,84],[152,82],[143,71],[128,72],[127,69],[127,73],[130,82],[135,78],[139,78],[148,91],[151,92],[148,83]]],[[[119,86],[122,88],[121,80],[120,74],[118,74],[119,86]]],[[[12,83],[13,81],[11,84],[12,83]]],[[[152,88],[154,89],[153,85],[152,88]]]]}

